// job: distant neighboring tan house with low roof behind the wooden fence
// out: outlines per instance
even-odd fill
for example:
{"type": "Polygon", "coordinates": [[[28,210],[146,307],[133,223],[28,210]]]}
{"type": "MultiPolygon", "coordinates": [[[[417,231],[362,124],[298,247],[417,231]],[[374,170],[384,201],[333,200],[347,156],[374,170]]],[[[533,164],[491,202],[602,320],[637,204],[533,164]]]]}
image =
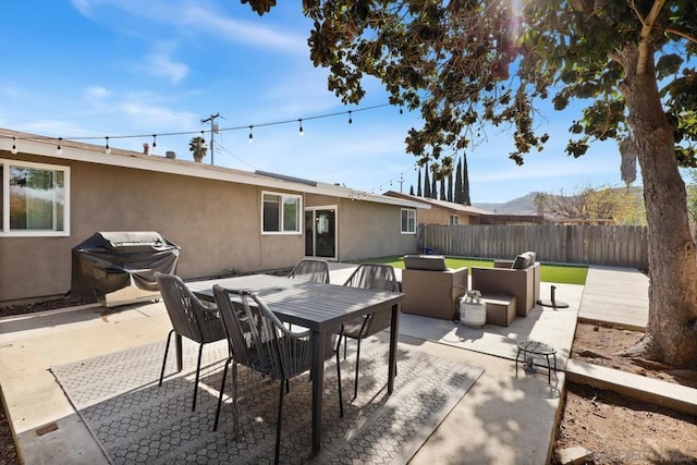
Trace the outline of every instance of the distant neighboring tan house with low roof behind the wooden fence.
{"type": "Polygon", "coordinates": [[[418,221],[423,224],[542,224],[547,222],[541,215],[502,215],[454,201],[418,197],[394,191],[388,191],[384,195],[430,206],[429,209],[420,209],[420,207],[418,209],[418,221]]]}

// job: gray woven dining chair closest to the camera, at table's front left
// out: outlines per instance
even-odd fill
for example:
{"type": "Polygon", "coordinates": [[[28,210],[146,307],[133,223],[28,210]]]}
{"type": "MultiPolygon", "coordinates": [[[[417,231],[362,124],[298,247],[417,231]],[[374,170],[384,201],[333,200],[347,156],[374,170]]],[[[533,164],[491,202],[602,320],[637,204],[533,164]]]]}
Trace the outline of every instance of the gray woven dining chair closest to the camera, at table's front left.
{"type": "MultiPolygon", "coordinates": [[[[220,285],[213,286],[213,295],[222,316],[232,352],[222,372],[213,431],[218,429],[222,396],[225,389],[228,367],[232,364],[233,430],[237,433],[237,364],[281,381],[279,411],[276,430],[276,463],[281,450],[281,424],[283,417],[284,384],[311,367],[313,342],[310,331],[290,331],[273,313],[250,291],[237,291],[220,285]]],[[[331,339],[326,341],[328,357],[333,356],[331,339]]],[[[343,416],[341,371],[339,376],[339,412],[343,416]]]]}

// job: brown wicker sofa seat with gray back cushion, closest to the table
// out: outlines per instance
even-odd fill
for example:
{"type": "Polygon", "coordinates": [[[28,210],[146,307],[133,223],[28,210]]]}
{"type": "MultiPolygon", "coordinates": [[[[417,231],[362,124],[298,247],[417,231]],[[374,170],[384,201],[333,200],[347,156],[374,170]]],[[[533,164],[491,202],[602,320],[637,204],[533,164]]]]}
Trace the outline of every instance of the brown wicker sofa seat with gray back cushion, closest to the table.
{"type": "Polygon", "coordinates": [[[452,320],[453,298],[467,290],[468,268],[448,269],[441,255],[405,255],[402,270],[402,311],[452,320]]]}

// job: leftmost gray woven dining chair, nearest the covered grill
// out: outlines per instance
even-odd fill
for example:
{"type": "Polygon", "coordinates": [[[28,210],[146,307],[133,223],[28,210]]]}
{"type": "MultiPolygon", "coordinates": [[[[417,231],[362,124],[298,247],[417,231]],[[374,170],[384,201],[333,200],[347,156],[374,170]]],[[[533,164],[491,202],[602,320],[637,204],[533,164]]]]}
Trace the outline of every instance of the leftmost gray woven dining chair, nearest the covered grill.
{"type": "Polygon", "coordinates": [[[204,354],[204,344],[222,341],[225,339],[225,329],[218,313],[218,308],[204,305],[186,286],[181,278],[174,274],[155,273],[157,285],[162,294],[167,314],[172,322],[172,330],[167,336],[164,346],[164,359],[160,371],[160,383],[164,378],[167,355],[170,348],[172,334],[176,333],[191,339],[199,344],[198,362],[196,364],[196,382],[194,383],[194,401],[192,412],[196,411],[196,396],[198,393],[198,378],[200,374],[200,360],[204,354]]]}

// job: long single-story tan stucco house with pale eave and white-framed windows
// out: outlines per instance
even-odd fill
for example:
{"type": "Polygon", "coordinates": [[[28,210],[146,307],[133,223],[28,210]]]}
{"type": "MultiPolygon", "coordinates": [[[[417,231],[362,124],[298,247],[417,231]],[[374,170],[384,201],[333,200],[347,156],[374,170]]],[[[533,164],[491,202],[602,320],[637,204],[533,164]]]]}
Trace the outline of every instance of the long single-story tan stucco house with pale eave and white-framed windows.
{"type": "Polygon", "coordinates": [[[0,130],[0,303],[71,289],[98,231],[156,231],[184,279],[417,249],[411,199],[0,130]]]}

